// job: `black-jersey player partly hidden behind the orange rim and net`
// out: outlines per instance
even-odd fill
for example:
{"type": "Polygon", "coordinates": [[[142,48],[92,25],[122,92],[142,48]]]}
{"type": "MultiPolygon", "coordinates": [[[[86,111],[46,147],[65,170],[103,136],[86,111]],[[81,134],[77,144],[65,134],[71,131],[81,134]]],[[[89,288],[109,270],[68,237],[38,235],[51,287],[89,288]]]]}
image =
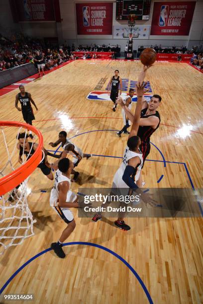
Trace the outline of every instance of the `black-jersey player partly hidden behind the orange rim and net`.
{"type": "MultiPolygon", "coordinates": [[[[24,132],[19,133],[17,136],[18,139],[17,149],[19,150],[18,161],[20,163],[22,163],[23,152],[26,155],[27,159],[29,159],[32,156],[32,154],[34,154],[35,150],[38,147],[38,144],[28,142],[27,137],[28,135],[26,135],[24,132]]],[[[45,153],[44,159],[42,160],[42,162],[39,163],[37,167],[41,169],[42,173],[46,175],[48,179],[53,180],[54,176],[50,168],[50,164],[48,163],[47,160],[47,151],[44,149],[44,147],[42,147],[42,151],[44,151],[45,153]]]]}

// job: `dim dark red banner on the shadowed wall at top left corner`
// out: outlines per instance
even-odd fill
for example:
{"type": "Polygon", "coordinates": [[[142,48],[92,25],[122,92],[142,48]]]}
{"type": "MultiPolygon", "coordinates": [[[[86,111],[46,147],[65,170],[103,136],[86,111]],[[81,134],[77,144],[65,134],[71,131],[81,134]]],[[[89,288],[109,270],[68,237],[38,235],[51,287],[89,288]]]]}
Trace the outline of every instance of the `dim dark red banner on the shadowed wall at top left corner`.
{"type": "Polygon", "coordinates": [[[18,21],[55,21],[53,0],[17,0],[18,21]]]}

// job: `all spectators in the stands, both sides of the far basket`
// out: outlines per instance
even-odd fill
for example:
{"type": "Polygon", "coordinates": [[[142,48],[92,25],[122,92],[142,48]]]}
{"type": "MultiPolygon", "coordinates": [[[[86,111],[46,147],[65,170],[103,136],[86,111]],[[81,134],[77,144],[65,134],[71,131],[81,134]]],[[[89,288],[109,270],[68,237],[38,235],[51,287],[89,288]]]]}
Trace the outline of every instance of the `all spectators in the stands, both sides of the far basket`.
{"type": "MultiPolygon", "coordinates": [[[[145,47],[140,46],[138,52],[142,52],[145,47]]],[[[151,47],[157,53],[194,54],[191,63],[201,69],[203,68],[203,54],[198,52],[197,47],[193,47],[191,51],[184,46],[176,47],[175,45],[173,47],[151,45],[151,47]]],[[[63,62],[78,59],[74,52],[84,52],[83,59],[96,59],[98,58],[97,52],[112,52],[111,58],[115,59],[120,56],[120,46],[110,44],[79,45],[78,47],[75,47],[74,44],[71,47],[67,44],[61,46],[45,45],[43,40],[25,37],[20,33],[11,36],[9,39],[0,34],[0,71],[32,62],[36,65],[36,68],[40,64],[44,73],[44,70],[50,70],[63,62]]],[[[181,56],[179,56],[179,60],[181,61],[181,56]]]]}

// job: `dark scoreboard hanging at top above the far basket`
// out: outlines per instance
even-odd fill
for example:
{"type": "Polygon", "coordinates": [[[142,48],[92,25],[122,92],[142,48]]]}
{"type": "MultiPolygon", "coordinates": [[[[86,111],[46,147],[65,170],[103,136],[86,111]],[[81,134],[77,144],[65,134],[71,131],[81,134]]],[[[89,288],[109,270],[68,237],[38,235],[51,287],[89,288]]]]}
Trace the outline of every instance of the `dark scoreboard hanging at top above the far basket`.
{"type": "Polygon", "coordinates": [[[116,0],[116,20],[128,20],[135,15],[136,20],[149,20],[151,0],[116,0]]]}

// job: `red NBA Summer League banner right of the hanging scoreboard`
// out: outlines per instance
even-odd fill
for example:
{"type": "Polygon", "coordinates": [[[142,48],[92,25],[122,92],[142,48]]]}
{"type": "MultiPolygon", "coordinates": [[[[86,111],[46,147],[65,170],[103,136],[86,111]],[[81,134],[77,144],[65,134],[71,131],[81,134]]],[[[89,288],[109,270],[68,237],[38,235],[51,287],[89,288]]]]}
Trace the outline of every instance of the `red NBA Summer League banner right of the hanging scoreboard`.
{"type": "Polygon", "coordinates": [[[188,36],[195,1],[154,2],[150,35],[188,36]]]}

